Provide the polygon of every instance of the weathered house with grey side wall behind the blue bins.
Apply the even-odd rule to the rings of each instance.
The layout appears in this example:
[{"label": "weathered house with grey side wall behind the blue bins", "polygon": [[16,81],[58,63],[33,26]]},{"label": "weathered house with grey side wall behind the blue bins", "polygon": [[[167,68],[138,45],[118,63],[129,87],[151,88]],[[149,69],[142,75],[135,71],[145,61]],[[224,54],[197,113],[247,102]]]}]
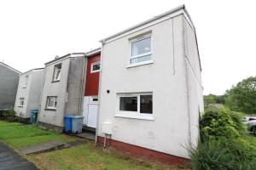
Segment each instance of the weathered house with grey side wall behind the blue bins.
[{"label": "weathered house with grey side wall behind the blue bins", "polygon": [[82,115],[85,61],[83,53],[75,53],[45,64],[40,125],[62,131],[65,115]]}]

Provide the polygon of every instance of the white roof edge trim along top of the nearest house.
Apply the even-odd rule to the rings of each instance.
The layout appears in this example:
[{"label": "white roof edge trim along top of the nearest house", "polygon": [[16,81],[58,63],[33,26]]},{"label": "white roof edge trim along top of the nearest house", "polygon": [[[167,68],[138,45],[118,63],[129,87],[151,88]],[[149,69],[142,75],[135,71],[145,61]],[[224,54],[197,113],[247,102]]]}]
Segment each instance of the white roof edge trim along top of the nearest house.
[{"label": "white roof edge trim along top of the nearest house", "polygon": [[153,17],[153,18],[151,18],[149,20],[145,20],[142,23],[137,24],[136,26],[131,26],[130,28],[125,29],[124,31],[119,31],[118,33],[113,34],[110,37],[106,37],[106,38],[102,39],[100,42],[108,41],[109,39],[111,39],[113,37],[118,37],[118,36],[124,34],[125,32],[132,31],[132,30],[134,30],[134,29],[136,29],[136,28],[138,28],[140,26],[144,26],[144,25],[146,25],[146,24],[148,24],[150,22],[153,22],[154,20],[159,20],[159,19],[161,19],[163,17],[166,17],[167,15],[173,14],[173,13],[178,12],[180,10],[183,10],[183,14],[186,15],[186,18],[189,20],[189,24],[195,29],[195,26],[194,26],[194,24],[193,24],[193,22],[192,22],[192,20],[191,20],[191,18],[189,16],[189,13],[185,9],[185,5],[183,4],[181,6],[178,6],[177,8],[172,8],[171,10],[167,11],[166,13],[160,14],[157,17]]}]

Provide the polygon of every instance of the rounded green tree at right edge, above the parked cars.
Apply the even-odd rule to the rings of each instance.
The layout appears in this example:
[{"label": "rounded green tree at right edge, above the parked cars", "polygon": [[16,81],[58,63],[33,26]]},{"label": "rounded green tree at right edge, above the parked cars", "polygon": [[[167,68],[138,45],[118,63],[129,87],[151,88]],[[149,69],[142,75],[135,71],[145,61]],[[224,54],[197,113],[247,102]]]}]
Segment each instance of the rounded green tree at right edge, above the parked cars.
[{"label": "rounded green tree at right edge, above the parked cars", "polygon": [[248,77],[225,94],[225,105],[232,111],[256,113],[256,77]]}]

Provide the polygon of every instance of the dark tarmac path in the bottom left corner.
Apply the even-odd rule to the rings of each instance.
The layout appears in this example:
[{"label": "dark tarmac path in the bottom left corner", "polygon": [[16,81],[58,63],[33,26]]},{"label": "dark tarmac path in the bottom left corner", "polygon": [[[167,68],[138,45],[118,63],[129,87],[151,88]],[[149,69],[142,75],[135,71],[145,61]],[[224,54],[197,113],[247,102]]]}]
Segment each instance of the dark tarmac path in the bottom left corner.
[{"label": "dark tarmac path in the bottom left corner", "polygon": [[30,161],[21,157],[7,145],[0,142],[0,170],[38,170]]}]

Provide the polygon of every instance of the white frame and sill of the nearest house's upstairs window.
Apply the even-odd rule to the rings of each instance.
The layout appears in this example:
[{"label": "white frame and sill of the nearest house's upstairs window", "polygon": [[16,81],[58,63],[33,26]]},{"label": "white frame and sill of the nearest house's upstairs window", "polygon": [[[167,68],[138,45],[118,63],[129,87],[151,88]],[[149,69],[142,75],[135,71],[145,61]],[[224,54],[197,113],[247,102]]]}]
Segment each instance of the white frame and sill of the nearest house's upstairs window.
[{"label": "white frame and sill of the nearest house's upstairs window", "polygon": [[[150,37],[150,52],[132,56],[132,43],[133,42],[141,41],[141,40],[146,39],[148,37]],[[153,48],[152,48],[152,34],[151,33],[143,35],[141,37],[137,37],[137,38],[131,39],[131,41],[130,41],[130,48],[131,48],[131,54],[130,54],[130,58],[129,58],[129,65],[127,66],[128,68],[129,67],[133,67],[133,66],[137,66],[137,65],[148,65],[148,64],[152,64],[153,63],[153,59],[152,59],[153,58]],[[147,55],[151,55],[151,59],[131,64],[131,59],[137,59],[137,58],[140,58],[140,57],[143,57],[143,56],[147,56]]]}]

